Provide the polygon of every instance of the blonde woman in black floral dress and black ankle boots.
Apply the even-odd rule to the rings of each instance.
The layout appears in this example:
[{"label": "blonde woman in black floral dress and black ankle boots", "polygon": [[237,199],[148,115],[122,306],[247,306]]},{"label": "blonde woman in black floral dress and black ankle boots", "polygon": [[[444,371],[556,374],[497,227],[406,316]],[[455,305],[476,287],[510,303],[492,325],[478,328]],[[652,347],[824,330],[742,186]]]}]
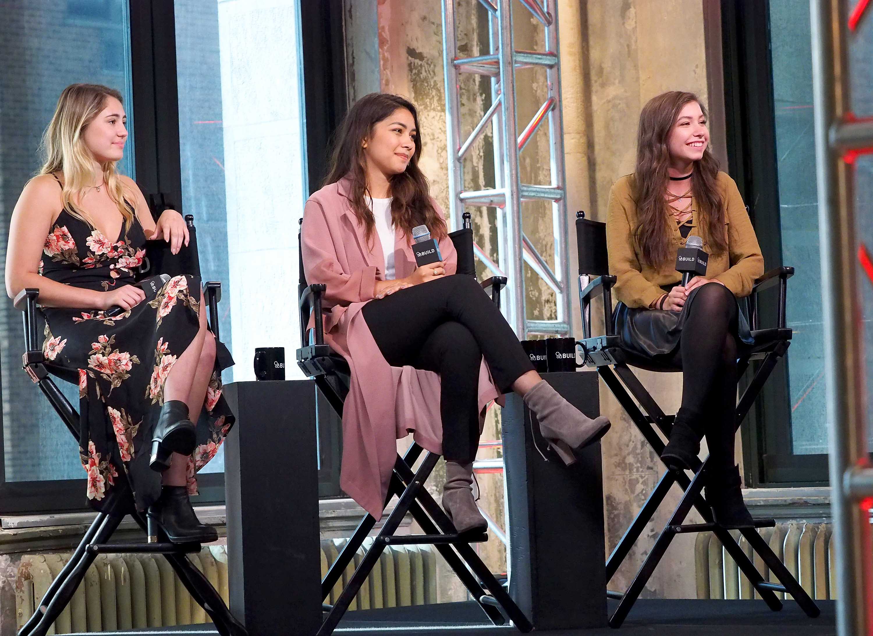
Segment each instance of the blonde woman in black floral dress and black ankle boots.
[{"label": "blonde woman in black floral dress and black ankle boots", "polygon": [[[189,494],[234,421],[221,395],[226,365],[216,362],[226,349],[207,328],[197,277],[171,278],[148,303],[134,286],[147,238],[176,253],[189,235],[175,210],[155,223],[116,171],[126,140],[119,92],[65,88],[45,165],[12,213],[6,291],[39,289],[45,359],[79,371],[87,499],[100,509],[127,482],[170,541],[207,543],[216,531],[197,520]],[[107,316],[113,307],[122,311]]]}]

